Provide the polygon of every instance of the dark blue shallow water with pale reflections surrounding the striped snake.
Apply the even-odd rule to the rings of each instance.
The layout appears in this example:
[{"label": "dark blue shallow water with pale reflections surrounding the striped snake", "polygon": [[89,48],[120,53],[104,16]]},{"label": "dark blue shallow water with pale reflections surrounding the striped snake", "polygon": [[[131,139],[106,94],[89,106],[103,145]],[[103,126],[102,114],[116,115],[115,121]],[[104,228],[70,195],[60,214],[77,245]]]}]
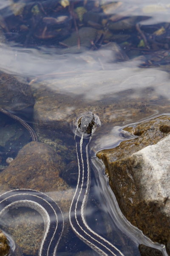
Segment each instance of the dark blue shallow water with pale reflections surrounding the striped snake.
[{"label": "dark blue shallow water with pale reflections surrounding the striped snake", "polygon": [[[78,16],[79,8],[85,13],[84,20]],[[0,71],[6,75],[0,74],[0,106],[30,123],[39,141],[57,151],[60,177],[73,177],[67,180],[67,189],[54,190],[48,173],[45,172],[43,181],[37,176],[34,179],[35,169],[25,183],[19,177],[18,184],[5,182],[2,175],[1,189],[25,188],[29,184],[31,189],[47,192],[61,204],[66,229],[58,255],[96,255],[71,231],[68,207],[62,203],[66,201],[67,206],[71,203],[77,181],[74,125],[77,117],[89,110],[102,123],[90,145],[92,180],[86,209],[89,226],[125,256],[140,256],[139,244],[158,248],[167,255],[162,245],[154,244],[122,215],[104,166],[95,154],[125,140],[120,135],[123,127],[170,112],[169,14],[166,0],[161,3],[1,0]],[[74,39],[68,41],[73,35]],[[11,134],[5,140],[8,143],[0,145],[2,174],[8,166],[7,156],[16,157],[30,138],[22,126],[3,115],[1,125],[2,134],[7,128]],[[51,183],[51,189],[46,183]],[[26,221],[28,216],[31,217]],[[1,222],[14,240],[18,236],[14,230],[19,230],[20,223],[26,225],[26,234],[19,230],[22,235],[17,243],[24,255],[37,255],[43,230],[40,215],[30,209],[13,209]],[[36,228],[35,223],[39,224]],[[35,237],[35,244],[30,237]]]}]

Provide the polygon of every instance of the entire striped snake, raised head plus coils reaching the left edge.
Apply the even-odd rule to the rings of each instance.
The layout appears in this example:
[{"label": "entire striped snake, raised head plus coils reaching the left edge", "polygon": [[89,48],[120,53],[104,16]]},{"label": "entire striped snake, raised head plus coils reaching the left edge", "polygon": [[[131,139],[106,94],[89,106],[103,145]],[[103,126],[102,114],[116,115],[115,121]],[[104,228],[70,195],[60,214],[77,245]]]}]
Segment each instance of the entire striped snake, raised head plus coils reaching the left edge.
[{"label": "entire striped snake, raised head plus coils reaching the left edge", "polygon": [[[12,118],[20,122],[19,117],[5,110]],[[77,121],[75,142],[78,162],[78,180],[74,197],[69,210],[69,222],[74,233],[85,244],[101,256],[124,256],[124,254],[110,241],[96,233],[89,227],[85,209],[91,185],[91,170],[89,163],[89,143],[94,133],[99,117],[92,112],[83,114]],[[31,138],[37,140],[34,130],[22,120],[21,122],[30,132]],[[44,221],[44,232],[40,243],[38,256],[56,256],[57,247],[64,228],[64,218],[57,203],[45,193],[34,189],[14,189],[0,195],[0,217],[10,209],[28,207],[40,213]]]}]

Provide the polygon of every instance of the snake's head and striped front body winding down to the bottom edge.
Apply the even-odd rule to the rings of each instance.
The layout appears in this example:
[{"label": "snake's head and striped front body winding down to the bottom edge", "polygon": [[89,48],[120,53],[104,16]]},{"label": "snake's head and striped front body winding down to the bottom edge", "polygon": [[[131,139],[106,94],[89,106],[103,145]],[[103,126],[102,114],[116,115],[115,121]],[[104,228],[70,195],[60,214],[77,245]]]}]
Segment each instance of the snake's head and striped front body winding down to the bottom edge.
[{"label": "snake's head and striped front body winding down to the bottom edge", "polygon": [[[92,132],[96,123],[95,118],[97,116],[93,113],[86,113],[82,116],[75,133],[79,177],[69,212],[70,224],[77,236],[99,253],[99,255],[123,256],[123,253],[118,248],[94,232],[88,226],[85,219],[85,208],[91,180],[88,145],[91,141]],[[77,136],[77,133],[79,136]]]}]

